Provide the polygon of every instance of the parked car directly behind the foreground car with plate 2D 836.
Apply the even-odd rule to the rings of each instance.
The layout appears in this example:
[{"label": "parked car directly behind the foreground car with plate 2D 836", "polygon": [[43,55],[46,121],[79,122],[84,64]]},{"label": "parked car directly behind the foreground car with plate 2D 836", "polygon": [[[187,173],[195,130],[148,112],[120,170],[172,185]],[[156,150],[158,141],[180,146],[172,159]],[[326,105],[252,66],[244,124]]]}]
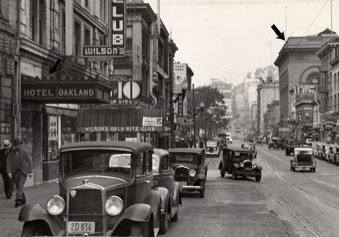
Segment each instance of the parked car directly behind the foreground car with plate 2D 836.
[{"label": "parked car directly behind the foreground car with plate 2D 836", "polygon": [[166,150],[154,148],[153,154],[153,187],[165,187],[168,192],[161,193],[161,222],[160,234],[167,232],[168,218],[177,221],[179,215],[179,204],[181,205],[181,188],[174,181],[174,170],[172,170],[171,156]]}]

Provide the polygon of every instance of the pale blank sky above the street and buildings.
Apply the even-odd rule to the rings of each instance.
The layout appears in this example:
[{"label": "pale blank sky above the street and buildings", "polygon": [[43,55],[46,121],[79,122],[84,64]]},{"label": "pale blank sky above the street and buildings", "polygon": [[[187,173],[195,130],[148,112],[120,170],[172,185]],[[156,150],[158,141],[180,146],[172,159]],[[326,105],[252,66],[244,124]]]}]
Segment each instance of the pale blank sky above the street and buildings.
[{"label": "pale blank sky above the street and buildings", "polygon": [[[157,0],[144,2],[157,13]],[[332,30],[339,34],[338,12],[339,0],[332,0]],[[331,29],[331,0],[160,0],[160,18],[179,48],[175,61],[192,68],[195,86],[210,78],[237,85],[278,57],[285,41],[276,39],[273,24],[286,39]]]}]

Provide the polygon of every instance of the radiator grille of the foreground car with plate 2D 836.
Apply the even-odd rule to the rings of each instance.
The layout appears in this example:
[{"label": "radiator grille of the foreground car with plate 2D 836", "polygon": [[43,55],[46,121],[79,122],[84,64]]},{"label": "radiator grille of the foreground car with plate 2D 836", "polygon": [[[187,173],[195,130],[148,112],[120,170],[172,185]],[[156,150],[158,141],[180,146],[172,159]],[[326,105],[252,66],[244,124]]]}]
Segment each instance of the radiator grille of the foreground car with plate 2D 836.
[{"label": "radiator grille of the foreground car with plate 2D 836", "polygon": [[99,189],[75,189],[74,197],[68,196],[68,221],[94,221],[95,232],[103,232],[102,191]]}]

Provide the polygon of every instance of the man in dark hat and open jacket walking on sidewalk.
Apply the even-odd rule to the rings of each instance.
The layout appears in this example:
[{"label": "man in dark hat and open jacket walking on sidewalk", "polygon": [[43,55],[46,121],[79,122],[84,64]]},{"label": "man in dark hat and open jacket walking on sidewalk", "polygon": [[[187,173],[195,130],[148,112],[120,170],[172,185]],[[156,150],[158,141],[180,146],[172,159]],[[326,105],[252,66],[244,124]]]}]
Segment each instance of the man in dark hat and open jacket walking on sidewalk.
[{"label": "man in dark hat and open jacket walking on sidewalk", "polygon": [[[20,138],[14,139],[14,151],[11,151],[7,157],[6,171],[10,178],[14,179],[17,188],[15,197],[15,207],[26,204],[26,196],[23,192],[23,186],[26,182],[27,175],[29,178],[33,176],[33,161],[28,152],[21,149],[23,142]],[[28,165],[27,165],[28,164]]]}]

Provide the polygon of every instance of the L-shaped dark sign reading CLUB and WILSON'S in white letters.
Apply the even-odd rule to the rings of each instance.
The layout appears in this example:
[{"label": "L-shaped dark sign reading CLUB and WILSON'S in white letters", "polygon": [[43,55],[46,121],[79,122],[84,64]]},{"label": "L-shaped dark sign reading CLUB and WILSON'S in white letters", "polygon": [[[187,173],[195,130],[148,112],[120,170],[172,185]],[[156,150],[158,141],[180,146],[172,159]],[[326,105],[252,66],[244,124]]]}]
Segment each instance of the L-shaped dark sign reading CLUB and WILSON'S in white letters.
[{"label": "L-shaped dark sign reading CLUB and WILSON'S in white letters", "polygon": [[84,45],[82,56],[89,60],[109,61],[126,55],[126,0],[108,2],[108,45]]}]

